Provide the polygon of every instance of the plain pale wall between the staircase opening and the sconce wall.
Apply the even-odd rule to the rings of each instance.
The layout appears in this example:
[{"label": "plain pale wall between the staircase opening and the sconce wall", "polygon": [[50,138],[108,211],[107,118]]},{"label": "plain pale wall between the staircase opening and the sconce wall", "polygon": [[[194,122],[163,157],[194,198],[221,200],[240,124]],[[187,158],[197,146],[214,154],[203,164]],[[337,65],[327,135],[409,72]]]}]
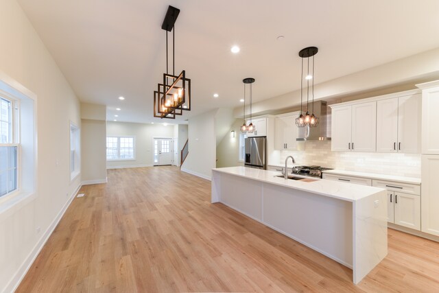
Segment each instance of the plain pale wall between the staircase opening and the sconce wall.
[{"label": "plain pale wall between the staircase opening and the sconce wall", "polygon": [[211,110],[189,118],[189,154],[181,170],[211,180],[216,166],[215,113]]}]

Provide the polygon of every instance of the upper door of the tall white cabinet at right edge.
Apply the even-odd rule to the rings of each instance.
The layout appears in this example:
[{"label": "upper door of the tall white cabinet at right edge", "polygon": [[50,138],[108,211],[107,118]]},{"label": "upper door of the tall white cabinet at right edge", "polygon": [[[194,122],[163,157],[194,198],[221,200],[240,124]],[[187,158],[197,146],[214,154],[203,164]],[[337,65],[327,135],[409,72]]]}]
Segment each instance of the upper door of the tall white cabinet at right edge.
[{"label": "upper door of the tall white cabinet at right edge", "polygon": [[439,86],[423,89],[422,151],[439,154]]}]

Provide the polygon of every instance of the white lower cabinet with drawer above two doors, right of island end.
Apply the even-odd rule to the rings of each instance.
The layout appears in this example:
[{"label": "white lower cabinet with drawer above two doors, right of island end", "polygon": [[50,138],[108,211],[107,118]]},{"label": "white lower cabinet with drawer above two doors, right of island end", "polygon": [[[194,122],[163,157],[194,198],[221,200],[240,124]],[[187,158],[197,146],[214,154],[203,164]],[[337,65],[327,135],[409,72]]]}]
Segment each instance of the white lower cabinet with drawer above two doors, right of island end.
[{"label": "white lower cabinet with drawer above two doors, right of island end", "polygon": [[[372,180],[372,185],[388,189],[388,222],[420,231],[420,188],[418,185],[383,180]],[[410,192],[410,194],[401,190]]]}]

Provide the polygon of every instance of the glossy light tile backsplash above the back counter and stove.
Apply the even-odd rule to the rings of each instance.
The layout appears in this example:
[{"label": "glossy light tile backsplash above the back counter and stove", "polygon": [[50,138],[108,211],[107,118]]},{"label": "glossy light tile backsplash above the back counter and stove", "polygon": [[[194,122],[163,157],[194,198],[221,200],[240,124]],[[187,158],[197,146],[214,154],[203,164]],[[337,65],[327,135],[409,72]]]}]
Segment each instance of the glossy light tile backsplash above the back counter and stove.
[{"label": "glossy light tile backsplash above the back counter and stove", "polygon": [[[294,156],[298,165],[320,165],[346,171],[420,178],[420,154],[331,152],[331,141],[306,141],[297,151],[280,151],[280,165]],[[291,163],[291,162],[290,162]]]}]

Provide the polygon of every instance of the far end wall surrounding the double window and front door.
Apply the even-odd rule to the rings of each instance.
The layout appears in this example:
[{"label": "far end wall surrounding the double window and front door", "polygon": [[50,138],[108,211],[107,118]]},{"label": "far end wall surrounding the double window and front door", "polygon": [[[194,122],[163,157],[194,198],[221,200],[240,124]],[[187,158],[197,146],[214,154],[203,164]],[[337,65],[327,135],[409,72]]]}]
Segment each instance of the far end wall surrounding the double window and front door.
[{"label": "far end wall surrounding the double window and front door", "polygon": [[154,137],[174,138],[174,126],[107,122],[107,136],[134,137],[134,160],[107,161],[108,169],[121,167],[147,167],[153,165],[152,141]]}]

